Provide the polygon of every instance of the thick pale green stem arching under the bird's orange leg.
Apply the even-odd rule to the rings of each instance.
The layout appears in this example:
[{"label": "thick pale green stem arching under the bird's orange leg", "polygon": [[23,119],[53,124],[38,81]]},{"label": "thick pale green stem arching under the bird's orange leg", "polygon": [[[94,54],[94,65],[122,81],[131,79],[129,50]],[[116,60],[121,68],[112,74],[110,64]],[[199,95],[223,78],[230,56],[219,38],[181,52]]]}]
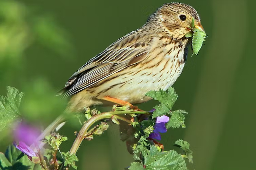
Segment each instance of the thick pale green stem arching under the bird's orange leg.
[{"label": "thick pale green stem arching under the bird's orange leg", "polygon": [[117,115],[117,114],[146,114],[149,113],[148,111],[112,111],[112,112],[104,112],[97,114],[95,116],[92,116],[91,119],[87,120],[81,130],[79,131],[78,135],[75,138],[75,141],[69,151],[70,154],[75,154],[82,143],[82,140],[84,139],[84,136],[86,135],[88,129],[97,121],[102,120],[102,119],[110,119],[112,115]]}]

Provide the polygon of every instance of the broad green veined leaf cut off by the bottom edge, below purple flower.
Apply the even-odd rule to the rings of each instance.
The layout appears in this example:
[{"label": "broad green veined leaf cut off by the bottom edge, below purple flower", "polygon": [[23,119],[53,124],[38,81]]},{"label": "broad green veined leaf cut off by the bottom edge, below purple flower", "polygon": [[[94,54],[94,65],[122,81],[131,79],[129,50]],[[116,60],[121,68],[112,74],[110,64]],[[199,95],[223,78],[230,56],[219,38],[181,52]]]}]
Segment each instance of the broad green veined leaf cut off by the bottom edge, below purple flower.
[{"label": "broad green veined leaf cut off by the bottom edge, below purple flower", "polygon": [[182,155],[174,150],[158,152],[155,146],[151,146],[149,152],[142,154],[145,158],[145,170],[187,170]]}]

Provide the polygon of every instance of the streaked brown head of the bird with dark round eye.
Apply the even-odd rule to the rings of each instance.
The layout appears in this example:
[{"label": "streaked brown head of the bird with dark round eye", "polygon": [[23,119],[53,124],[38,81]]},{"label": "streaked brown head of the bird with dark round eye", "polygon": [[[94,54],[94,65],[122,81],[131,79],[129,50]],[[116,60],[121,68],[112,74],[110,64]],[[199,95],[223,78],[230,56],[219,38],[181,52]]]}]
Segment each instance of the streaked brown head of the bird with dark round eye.
[{"label": "streaked brown head of the bird with dark round eye", "polygon": [[155,16],[158,23],[174,39],[183,39],[191,31],[192,19],[194,26],[204,31],[201,20],[196,10],[183,3],[168,3],[160,7]]}]

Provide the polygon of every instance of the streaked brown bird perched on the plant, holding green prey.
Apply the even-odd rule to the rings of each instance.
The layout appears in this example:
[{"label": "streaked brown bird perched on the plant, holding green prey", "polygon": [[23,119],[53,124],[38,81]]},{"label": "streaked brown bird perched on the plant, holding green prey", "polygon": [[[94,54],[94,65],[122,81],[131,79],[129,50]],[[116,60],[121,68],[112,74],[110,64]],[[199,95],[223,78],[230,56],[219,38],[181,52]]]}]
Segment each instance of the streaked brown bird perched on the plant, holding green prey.
[{"label": "streaked brown bird perched on the plant, holding green prey", "polygon": [[[66,82],[58,95],[70,97],[65,112],[117,103],[147,102],[151,90],[167,90],[181,75],[192,38],[185,34],[196,28],[204,31],[197,11],[190,5],[173,2],[158,8],[135,31],[113,42],[87,61]],[[58,117],[46,132],[63,122]]]}]

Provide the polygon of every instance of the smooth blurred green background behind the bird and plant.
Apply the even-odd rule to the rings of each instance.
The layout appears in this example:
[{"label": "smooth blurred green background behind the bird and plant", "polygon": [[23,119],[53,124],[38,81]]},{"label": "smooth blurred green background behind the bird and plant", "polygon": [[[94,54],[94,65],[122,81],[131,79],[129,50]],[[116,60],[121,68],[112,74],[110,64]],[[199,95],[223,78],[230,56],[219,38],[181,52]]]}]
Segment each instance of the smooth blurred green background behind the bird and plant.
[{"label": "smooth blurred green background behind the bird and plant", "polygon": [[[55,92],[73,72],[168,2],[0,0],[0,94],[6,95],[7,85],[25,92],[24,117],[47,126],[65,107]],[[194,156],[190,170],[255,170],[256,1],[180,2],[198,11],[208,37],[173,85],[179,95],[174,109],[189,112],[187,128],[169,130],[162,143],[170,149],[177,139],[187,140]],[[79,126],[69,123],[60,131],[69,137],[62,152],[71,147],[75,130]],[[2,152],[11,143],[8,133],[0,137]],[[84,141],[77,155],[79,170],[122,170],[133,161],[114,125]]]}]

